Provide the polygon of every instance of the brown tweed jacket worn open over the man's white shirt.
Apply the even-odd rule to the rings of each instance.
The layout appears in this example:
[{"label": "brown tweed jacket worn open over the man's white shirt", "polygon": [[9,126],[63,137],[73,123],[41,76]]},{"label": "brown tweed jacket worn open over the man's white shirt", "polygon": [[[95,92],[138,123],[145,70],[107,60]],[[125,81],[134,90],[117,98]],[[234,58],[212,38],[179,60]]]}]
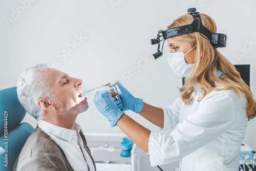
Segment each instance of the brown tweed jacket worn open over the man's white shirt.
[{"label": "brown tweed jacket worn open over the man's white shirt", "polygon": [[[79,132],[83,146],[92,158],[95,170],[95,162],[91,155],[90,149],[87,146],[86,138],[82,130]],[[40,127],[31,133],[25,145],[17,157],[13,170],[74,170],[66,158],[65,153],[60,146]]]}]

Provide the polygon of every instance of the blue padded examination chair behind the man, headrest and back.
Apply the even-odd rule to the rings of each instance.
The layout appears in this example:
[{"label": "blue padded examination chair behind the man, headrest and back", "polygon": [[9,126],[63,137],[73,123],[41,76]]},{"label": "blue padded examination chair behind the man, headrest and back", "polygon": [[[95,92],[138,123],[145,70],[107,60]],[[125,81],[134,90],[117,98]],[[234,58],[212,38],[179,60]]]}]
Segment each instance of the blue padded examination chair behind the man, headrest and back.
[{"label": "blue padded examination chair behind the man, headrest and back", "polygon": [[34,131],[29,123],[20,123],[25,114],[16,87],[0,90],[0,170],[12,170],[22,147]]}]

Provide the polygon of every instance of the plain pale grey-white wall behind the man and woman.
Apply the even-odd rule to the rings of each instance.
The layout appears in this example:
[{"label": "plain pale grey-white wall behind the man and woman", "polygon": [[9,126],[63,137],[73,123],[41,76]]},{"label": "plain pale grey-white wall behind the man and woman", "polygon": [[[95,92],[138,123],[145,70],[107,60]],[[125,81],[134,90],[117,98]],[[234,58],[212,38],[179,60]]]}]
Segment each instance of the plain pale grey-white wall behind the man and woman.
[{"label": "plain pale grey-white wall behind the man and woman", "polygon": [[[256,2],[246,1],[0,1],[0,89],[16,86],[19,75],[36,63],[83,80],[83,90],[120,80],[135,97],[165,107],[179,97],[181,78],[163,56],[154,60],[157,45],[150,40],[166,30],[187,9],[196,7],[212,17],[219,33],[227,34],[226,48],[218,50],[233,64],[251,65],[251,88],[256,99]],[[22,7],[23,6],[23,7]],[[94,94],[93,91],[90,94]],[[77,122],[87,134],[122,134],[88,97],[90,109]],[[151,131],[159,128],[140,115],[125,112]],[[26,115],[34,127],[37,121]],[[244,141],[256,149],[256,119],[249,121]]]}]

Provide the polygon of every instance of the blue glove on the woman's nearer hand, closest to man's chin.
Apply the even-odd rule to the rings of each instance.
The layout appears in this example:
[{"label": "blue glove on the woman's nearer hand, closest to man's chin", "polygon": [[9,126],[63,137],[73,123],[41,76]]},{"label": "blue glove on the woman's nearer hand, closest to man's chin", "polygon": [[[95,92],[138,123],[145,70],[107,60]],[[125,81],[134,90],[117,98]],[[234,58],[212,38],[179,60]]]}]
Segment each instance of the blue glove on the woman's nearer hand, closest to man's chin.
[{"label": "blue glove on the woman's nearer hand, closest to man's chin", "polygon": [[110,92],[108,90],[97,91],[94,95],[93,102],[99,112],[110,121],[111,127],[116,126],[116,122],[121,118],[124,112],[118,109]]}]

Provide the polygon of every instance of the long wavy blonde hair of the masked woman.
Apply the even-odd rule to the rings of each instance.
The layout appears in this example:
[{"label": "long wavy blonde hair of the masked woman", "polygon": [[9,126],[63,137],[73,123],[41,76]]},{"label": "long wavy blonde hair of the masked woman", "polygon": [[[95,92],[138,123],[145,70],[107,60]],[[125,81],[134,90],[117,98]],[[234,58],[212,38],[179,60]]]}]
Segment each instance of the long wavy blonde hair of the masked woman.
[{"label": "long wavy blonde hair of the masked woman", "polygon": [[[212,33],[217,32],[216,24],[211,17],[206,14],[200,14],[200,17],[205,28]],[[167,29],[189,25],[192,22],[193,16],[186,14],[176,19]],[[209,40],[202,37],[199,32],[175,36],[172,37],[172,40],[187,41],[191,47],[197,45],[193,72],[185,78],[185,84],[180,89],[181,98],[185,104],[193,101],[191,94],[194,92],[194,87],[197,88],[199,83],[202,96],[198,101],[201,101],[211,90],[233,90],[239,94],[241,99],[245,98],[248,120],[256,116],[256,102],[250,88],[232,63],[213,47]],[[223,74],[221,77],[218,77],[217,70]],[[223,88],[217,88],[218,84],[221,84]]]}]

